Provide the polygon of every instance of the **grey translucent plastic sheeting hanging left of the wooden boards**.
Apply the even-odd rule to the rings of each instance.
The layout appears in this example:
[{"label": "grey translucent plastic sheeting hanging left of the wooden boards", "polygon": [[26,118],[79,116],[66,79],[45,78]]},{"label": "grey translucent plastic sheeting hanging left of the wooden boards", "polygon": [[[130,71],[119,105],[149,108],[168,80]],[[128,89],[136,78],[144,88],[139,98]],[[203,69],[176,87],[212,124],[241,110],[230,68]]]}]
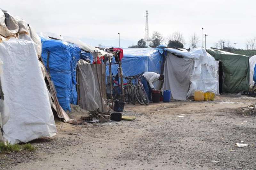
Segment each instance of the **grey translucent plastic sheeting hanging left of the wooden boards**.
[{"label": "grey translucent plastic sheeting hanging left of the wooden boards", "polygon": [[100,91],[90,63],[78,61],[79,106],[88,111],[101,110]]}]

